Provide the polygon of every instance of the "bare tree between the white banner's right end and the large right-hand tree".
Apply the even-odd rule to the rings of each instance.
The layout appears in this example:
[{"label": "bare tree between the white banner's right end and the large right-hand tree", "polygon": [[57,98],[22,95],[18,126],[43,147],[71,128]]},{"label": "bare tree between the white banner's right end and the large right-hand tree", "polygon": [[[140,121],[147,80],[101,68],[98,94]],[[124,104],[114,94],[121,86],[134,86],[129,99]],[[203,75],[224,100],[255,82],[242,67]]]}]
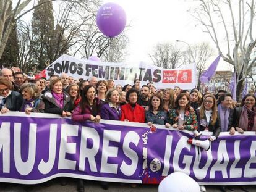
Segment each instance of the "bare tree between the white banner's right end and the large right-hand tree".
[{"label": "bare tree between the white banner's right end and the large right-hand tree", "polygon": [[[202,72],[206,69],[206,64],[209,59],[209,57],[213,56],[213,48],[210,47],[210,44],[207,42],[202,42],[195,44],[193,46],[190,46],[185,51],[185,62],[186,63],[195,63],[197,65],[197,72],[198,76],[200,77],[202,75]],[[200,79],[197,83],[197,89],[199,90],[201,85]]]}]

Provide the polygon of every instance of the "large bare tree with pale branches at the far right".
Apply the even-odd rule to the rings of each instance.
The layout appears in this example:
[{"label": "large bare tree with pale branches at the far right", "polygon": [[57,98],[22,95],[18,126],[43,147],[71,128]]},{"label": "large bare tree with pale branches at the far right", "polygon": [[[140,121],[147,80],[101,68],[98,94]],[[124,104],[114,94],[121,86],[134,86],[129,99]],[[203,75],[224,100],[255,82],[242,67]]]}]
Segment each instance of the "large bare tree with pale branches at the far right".
[{"label": "large bare tree with pale branches at the far right", "polygon": [[256,2],[198,0],[197,3],[193,11],[195,19],[214,41],[219,54],[226,52],[221,54],[224,61],[234,66],[239,99],[244,79],[256,65],[256,58],[249,62],[252,49],[256,45],[256,33],[253,30]]}]

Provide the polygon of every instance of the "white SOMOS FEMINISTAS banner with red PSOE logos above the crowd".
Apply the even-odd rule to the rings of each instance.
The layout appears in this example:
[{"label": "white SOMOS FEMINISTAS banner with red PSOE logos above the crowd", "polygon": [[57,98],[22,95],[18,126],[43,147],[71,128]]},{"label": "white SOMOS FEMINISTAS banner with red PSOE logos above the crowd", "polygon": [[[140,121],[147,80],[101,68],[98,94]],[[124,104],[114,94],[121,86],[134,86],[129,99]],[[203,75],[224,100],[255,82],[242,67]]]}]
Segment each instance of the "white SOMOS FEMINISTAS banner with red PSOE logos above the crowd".
[{"label": "white SOMOS FEMINISTAS banner with red PSOE logos above the crowd", "polygon": [[182,89],[192,89],[196,86],[195,64],[177,69],[164,69],[145,62],[133,64],[96,62],[77,59],[66,54],[49,65],[38,77],[49,78],[50,75],[61,75],[62,72],[84,80],[92,76],[99,80],[112,79],[116,85],[121,84],[122,86],[127,83],[133,85],[135,79],[139,79],[141,85],[153,81],[156,88],[159,89],[174,88],[174,86],[179,86]]}]

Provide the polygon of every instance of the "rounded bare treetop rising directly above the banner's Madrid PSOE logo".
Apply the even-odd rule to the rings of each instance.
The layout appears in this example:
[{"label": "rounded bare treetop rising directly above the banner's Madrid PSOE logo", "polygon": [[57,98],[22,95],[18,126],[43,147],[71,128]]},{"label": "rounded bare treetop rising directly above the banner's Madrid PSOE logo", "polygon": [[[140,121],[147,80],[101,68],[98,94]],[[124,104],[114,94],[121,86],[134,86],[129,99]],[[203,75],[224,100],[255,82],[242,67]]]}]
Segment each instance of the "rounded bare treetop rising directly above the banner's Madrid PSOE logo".
[{"label": "rounded bare treetop rising directly above the banner's Madrid PSOE logo", "polygon": [[172,43],[156,44],[153,54],[148,54],[153,64],[166,69],[180,67],[184,62],[184,52]]}]

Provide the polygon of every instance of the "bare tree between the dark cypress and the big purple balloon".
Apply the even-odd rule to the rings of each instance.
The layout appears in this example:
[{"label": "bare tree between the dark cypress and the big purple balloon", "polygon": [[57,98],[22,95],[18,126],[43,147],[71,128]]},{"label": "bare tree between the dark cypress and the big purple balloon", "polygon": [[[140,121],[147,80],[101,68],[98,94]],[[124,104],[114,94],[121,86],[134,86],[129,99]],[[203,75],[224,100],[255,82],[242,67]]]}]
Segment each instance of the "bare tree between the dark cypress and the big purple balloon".
[{"label": "bare tree between the dark cypress and the big purple balloon", "polygon": [[49,57],[50,61],[54,61],[63,53],[67,54],[69,48],[75,49],[76,44],[84,42],[81,33],[86,31],[90,25],[93,25],[99,5],[100,1],[92,1],[86,7],[67,2],[61,4],[56,19],[55,38],[51,42],[53,52],[52,56]]}]

